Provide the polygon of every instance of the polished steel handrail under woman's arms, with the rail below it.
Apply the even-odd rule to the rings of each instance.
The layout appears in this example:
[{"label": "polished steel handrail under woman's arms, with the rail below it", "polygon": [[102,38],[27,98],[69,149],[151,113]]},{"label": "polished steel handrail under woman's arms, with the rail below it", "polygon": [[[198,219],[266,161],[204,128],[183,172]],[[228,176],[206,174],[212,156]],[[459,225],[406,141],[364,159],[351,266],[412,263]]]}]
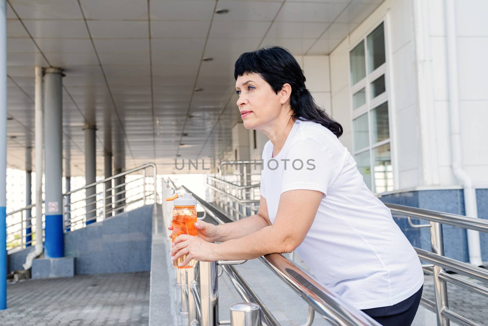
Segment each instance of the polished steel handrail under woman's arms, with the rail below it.
[{"label": "polished steel handrail under woman's arms, with the rail below it", "polygon": [[[190,189],[181,185],[174,187],[173,190],[183,189],[185,192],[191,192]],[[225,224],[233,222],[227,216],[224,215],[217,207],[203,201],[200,197],[193,193],[195,200],[207,211],[207,215],[210,216],[215,222],[219,224]],[[361,310],[358,310],[351,305],[344,302],[332,291],[327,290],[324,286],[320,285],[304,270],[297,265],[287,260],[281,254],[268,254],[259,258],[260,261],[269,267],[273,272],[290,286],[295,292],[297,292],[310,306],[312,306],[319,314],[326,319],[333,321],[337,325],[344,326],[380,326],[376,321],[370,318]],[[203,262],[200,262],[202,264]],[[237,277],[234,273],[235,268],[231,265],[223,265],[222,268],[226,273],[231,274],[231,280],[233,284],[238,285],[236,289],[241,289],[241,296],[244,300],[258,301],[257,304],[261,304],[264,325],[277,326],[279,323],[272,316],[271,312],[264,306],[260,300],[253,299],[252,289],[246,286],[240,277]],[[202,274],[200,274],[202,275]],[[245,289],[245,291],[244,291]],[[257,297],[257,296],[256,296]],[[245,299],[246,298],[246,299]],[[259,299],[259,298],[258,298]],[[246,300],[246,301],[247,301]],[[203,300],[202,300],[203,304]],[[202,309],[203,310],[203,309]],[[202,324],[202,326],[205,326]]]}]

